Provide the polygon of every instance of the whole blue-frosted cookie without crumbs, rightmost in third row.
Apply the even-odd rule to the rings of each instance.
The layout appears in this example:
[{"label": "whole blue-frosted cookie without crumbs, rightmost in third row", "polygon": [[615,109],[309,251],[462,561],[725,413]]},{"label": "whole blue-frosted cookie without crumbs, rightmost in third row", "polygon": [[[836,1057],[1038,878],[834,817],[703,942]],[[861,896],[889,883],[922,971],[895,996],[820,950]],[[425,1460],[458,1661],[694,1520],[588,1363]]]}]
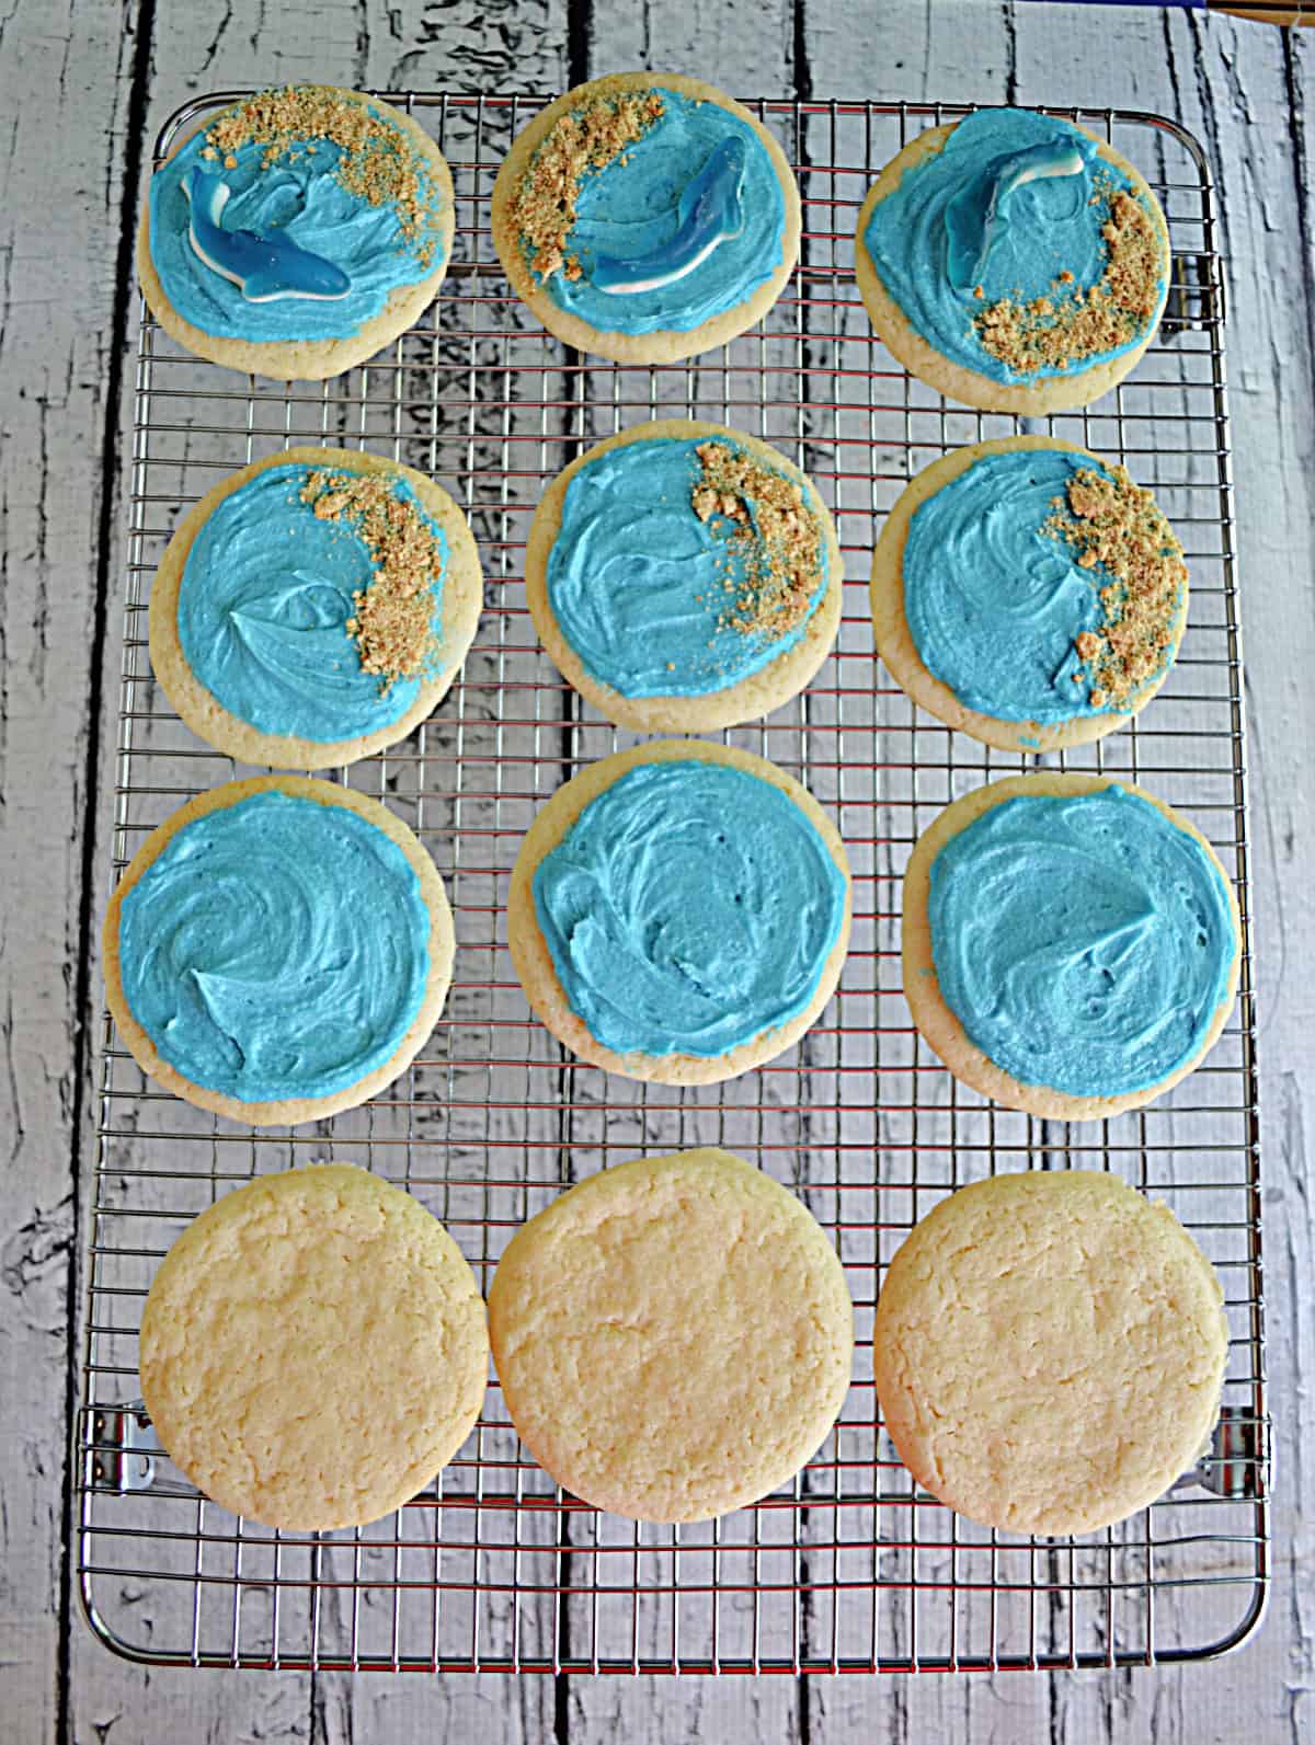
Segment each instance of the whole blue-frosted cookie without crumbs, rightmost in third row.
[{"label": "whole blue-frosted cookie without crumbs, rightmost in third row", "polygon": [[950,1071],[1008,1108],[1100,1120],[1214,1047],[1242,923],[1201,832],[1130,782],[1039,771],[954,801],[905,872],[905,998]]}]

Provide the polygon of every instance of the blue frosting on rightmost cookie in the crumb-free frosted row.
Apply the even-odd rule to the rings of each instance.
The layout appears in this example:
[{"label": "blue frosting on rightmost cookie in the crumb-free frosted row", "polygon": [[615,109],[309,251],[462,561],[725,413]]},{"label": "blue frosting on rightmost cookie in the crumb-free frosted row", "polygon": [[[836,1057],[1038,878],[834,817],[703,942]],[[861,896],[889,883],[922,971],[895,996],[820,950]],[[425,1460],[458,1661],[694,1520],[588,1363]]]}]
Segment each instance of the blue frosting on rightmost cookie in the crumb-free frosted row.
[{"label": "blue frosting on rightmost cookie in the crumb-free frosted row", "polygon": [[1020,1084],[1144,1091],[1196,1054],[1233,916],[1201,845],[1139,794],[1020,796],[931,866],[933,958],[967,1037]]}]

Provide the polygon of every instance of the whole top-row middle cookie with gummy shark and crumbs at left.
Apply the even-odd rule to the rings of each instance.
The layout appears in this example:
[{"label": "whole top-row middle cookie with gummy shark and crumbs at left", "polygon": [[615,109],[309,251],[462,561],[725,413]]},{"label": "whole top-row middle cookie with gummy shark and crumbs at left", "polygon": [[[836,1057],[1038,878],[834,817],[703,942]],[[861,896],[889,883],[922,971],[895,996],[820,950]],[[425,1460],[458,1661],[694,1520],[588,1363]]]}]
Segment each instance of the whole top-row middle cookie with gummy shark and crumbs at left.
[{"label": "whole top-row middle cookie with gummy shark and crumbs at left", "polygon": [[781,147],[725,92],[613,73],[517,136],[492,190],[492,241],[557,339],[667,363],[767,314],[798,258],[800,197]]}]

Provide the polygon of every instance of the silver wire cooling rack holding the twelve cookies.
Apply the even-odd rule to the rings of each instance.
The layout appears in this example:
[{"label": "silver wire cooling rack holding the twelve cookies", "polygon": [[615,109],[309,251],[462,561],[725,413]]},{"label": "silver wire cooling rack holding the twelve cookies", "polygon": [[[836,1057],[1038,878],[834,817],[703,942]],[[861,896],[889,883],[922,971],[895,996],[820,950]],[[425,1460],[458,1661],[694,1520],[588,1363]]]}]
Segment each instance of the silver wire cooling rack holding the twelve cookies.
[{"label": "silver wire cooling rack holding the twelve cookies", "polygon": [[[239,92],[183,106],[157,157]],[[456,979],[410,1071],[372,1105],[250,1133],[164,1096],[105,1019],[91,1183],[77,1567],[93,1628],[122,1654],[206,1666],[821,1672],[1125,1665],[1240,1642],[1266,1583],[1257,1115],[1243,712],[1224,408],[1222,283],[1207,161],[1153,115],[1076,112],[1147,174],[1170,220],[1174,288],[1132,379],[1088,412],[1036,421],[1154,487],[1191,564],[1191,619],[1130,729],[1048,759],[1135,778],[1208,834],[1242,906],[1238,1007],[1186,1082],[1139,1113],[1065,1127],[960,1087],[899,991],[899,878],[936,811],[1020,759],[919,714],[873,656],[866,574],[906,480],[947,448],[1018,429],[898,368],[854,284],[852,232],[877,169],[962,108],[760,101],[803,194],[803,255],[760,328],[690,363],[625,368],[566,351],[508,293],[489,192],[545,99],[389,94],[440,141],[458,201],[452,269],[426,318],[370,365],[283,387],[185,356],[141,311],[127,492],[114,876],[190,794],[246,773],[157,691],[147,595],[187,504],[231,468],[299,441],[360,445],[437,475],[487,571],[465,674],[435,717],[342,771],[433,853],[452,899]],[[1074,113],[1074,112],[1064,112]],[[120,335],[127,344],[127,335]],[[533,1021],[506,895],[536,806],[630,738],[566,688],[526,611],[526,529],[583,445],[658,414],[777,443],[830,501],[849,567],[833,656],[805,696],[728,735],[800,777],[854,867],[840,989],[807,1038],[725,1085],[637,1085],[585,1066]],[[337,1157],[409,1187],[487,1286],[517,1225],[564,1185],[637,1153],[725,1145],[803,1195],[857,1310],[854,1386],[800,1478],[702,1527],[634,1525],[562,1495],[520,1448],[496,1386],[437,1485],[349,1534],[278,1534],[206,1502],[154,1447],[136,1335],[161,1255],[262,1171]],[[1231,1351],[1214,1448],[1174,1490],[1081,1539],[978,1529],[920,1492],[882,1431],[871,1321],[882,1267],[964,1181],[1067,1166],[1165,1199],[1224,1283]],[[1135,1434],[1137,1426],[1130,1424]]]}]

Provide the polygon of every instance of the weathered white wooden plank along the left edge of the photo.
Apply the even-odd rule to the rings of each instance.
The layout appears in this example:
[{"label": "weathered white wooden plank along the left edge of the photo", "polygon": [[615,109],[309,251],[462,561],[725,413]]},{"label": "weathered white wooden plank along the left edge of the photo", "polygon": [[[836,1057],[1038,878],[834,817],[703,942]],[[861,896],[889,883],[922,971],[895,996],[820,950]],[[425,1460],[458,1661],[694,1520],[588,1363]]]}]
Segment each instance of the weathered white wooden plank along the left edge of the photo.
[{"label": "weathered white wooden plank along the left edge of the photo", "polygon": [[[65,1724],[65,1317],[94,543],[133,37],[108,0],[0,23],[0,1651],[5,1728]],[[84,1105],[86,1113],[86,1105]]]}]

